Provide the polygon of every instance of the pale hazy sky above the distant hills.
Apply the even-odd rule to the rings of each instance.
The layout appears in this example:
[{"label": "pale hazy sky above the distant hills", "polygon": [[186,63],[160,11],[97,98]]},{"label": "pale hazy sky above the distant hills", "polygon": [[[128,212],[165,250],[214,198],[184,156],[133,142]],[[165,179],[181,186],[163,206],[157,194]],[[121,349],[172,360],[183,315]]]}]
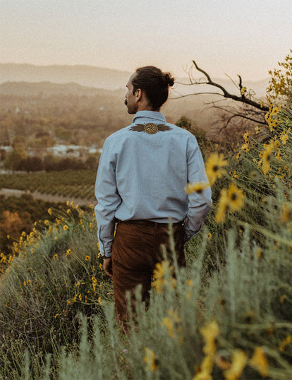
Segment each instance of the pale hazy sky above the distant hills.
[{"label": "pale hazy sky above the distant hills", "polygon": [[292,48],[291,0],[0,0],[0,61],[267,78]]}]

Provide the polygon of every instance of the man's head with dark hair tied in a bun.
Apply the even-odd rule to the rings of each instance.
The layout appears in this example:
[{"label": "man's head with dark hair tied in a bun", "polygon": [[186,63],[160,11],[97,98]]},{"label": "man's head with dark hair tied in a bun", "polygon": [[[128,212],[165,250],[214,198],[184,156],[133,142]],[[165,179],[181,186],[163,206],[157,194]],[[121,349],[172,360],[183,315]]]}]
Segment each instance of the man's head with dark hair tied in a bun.
[{"label": "man's head with dark hair tied in a bun", "polygon": [[163,73],[154,66],[137,69],[130,77],[126,87],[125,105],[129,114],[143,109],[159,111],[169,96],[169,87],[174,85],[170,73]]}]

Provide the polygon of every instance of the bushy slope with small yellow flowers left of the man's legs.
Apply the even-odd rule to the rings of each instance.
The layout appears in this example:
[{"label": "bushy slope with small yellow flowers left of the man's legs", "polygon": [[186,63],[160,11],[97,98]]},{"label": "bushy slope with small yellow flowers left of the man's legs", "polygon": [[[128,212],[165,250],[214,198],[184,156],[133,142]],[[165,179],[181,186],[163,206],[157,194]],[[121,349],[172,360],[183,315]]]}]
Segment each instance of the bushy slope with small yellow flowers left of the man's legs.
[{"label": "bushy slope with small yellow flowers left of the man's legs", "polygon": [[56,355],[61,345],[73,348],[78,343],[78,314],[102,320],[101,304],[111,299],[111,284],[99,259],[95,215],[67,207],[65,213],[49,208],[54,222],[44,220],[29,234],[23,232],[6,260],[0,278],[0,368],[9,378],[20,376],[22,353],[28,348],[33,378],[39,379],[44,353]]}]

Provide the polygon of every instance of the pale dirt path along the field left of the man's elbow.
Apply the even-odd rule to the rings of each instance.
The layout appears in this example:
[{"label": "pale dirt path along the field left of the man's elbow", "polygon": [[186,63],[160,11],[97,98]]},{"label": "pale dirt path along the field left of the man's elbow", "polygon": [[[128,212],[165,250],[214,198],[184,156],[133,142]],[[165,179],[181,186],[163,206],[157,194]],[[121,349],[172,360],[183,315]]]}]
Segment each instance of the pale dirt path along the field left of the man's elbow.
[{"label": "pale dirt path along the field left of the man's elbow", "polygon": [[69,201],[70,203],[73,202],[76,205],[79,206],[90,206],[91,204],[95,205],[97,201],[95,199],[82,199],[82,198],[73,198],[71,196],[58,196],[58,195],[52,195],[52,194],[42,194],[39,193],[39,191],[23,191],[23,190],[16,190],[16,189],[0,189],[0,195],[4,196],[23,196],[23,194],[29,194],[35,199],[40,199],[42,201],[46,202],[62,202],[66,203]]}]

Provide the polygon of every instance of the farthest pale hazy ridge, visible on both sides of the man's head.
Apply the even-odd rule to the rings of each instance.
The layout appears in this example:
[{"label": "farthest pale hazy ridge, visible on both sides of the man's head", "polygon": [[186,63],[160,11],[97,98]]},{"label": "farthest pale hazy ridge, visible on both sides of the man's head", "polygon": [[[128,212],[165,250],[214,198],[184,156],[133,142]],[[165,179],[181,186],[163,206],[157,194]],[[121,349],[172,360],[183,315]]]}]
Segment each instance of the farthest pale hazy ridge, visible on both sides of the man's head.
[{"label": "farthest pale hazy ridge, visible on both sides of the man's head", "polygon": [[[212,73],[209,74],[212,77]],[[86,65],[37,66],[33,64],[0,64],[0,83],[78,83],[79,85],[90,88],[104,88],[106,90],[117,90],[119,88],[123,88],[123,90],[126,90],[125,86],[130,75],[131,73],[129,71],[104,69],[97,66]],[[197,78],[200,77],[201,75],[197,75]],[[237,83],[238,78],[233,79]],[[177,80],[181,82],[188,81],[186,78],[177,78]],[[238,91],[229,78],[213,78],[213,80],[223,85],[226,90],[233,93]],[[264,96],[267,83],[268,79],[248,81],[246,78],[243,78],[243,85],[248,88],[252,88],[259,97]],[[195,88],[195,86],[176,85],[175,88],[178,90],[178,93],[181,94],[192,93],[195,91],[201,92],[205,90],[214,92],[214,88],[211,86],[207,86],[206,88],[202,88],[202,86]],[[71,90],[73,90],[73,87]]]}]

